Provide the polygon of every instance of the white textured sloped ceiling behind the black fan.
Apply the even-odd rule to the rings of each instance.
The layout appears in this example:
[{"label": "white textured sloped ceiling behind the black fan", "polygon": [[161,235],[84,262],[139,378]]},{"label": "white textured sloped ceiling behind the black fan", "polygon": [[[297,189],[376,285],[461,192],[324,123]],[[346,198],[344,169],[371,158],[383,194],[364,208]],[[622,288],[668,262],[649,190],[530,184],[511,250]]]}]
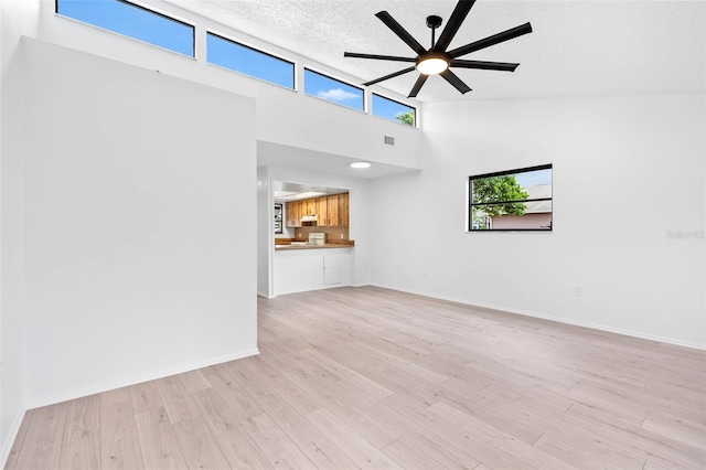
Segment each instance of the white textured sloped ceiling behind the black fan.
[{"label": "white textured sloped ceiling behind the black fan", "polygon": [[[456,0],[168,0],[277,46],[370,81],[405,68],[344,58],[343,52],[414,56],[374,14],[387,10],[422,45],[425,20],[448,20]],[[531,22],[532,34],[461,58],[518,62],[515,73],[454,70],[473,92],[461,96],[430,77],[418,100],[704,92],[706,2],[478,0],[450,49]],[[441,26],[443,28],[443,25]],[[407,95],[413,72],[381,83]],[[383,89],[384,89],[383,88]]]}]

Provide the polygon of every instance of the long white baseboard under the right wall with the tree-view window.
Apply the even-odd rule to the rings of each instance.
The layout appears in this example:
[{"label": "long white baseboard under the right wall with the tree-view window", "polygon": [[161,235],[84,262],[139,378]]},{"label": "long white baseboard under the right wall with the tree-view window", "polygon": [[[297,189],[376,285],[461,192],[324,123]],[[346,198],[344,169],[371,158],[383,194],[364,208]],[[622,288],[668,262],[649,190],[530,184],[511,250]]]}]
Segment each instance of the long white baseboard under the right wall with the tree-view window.
[{"label": "long white baseboard under the right wall with the tree-view window", "polygon": [[379,284],[371,284],[371,286],[379,287],[382,289],[389,289],[389,290],[397,290],[397,291],[400,291],[400,292],[414,293],[416,296],[429,297],[429,298],[432,298],[432,299],[446,300],[446,301],[449,301],[449,302],[462,303],[462,305],[470,306],[470,307],[478,307],[478,308],[483,308],[483,309],[496,310],[496,311],[500,311],[500,312],[521,314],[521,316],[524,316],[524,317],[539,318],[539,319],[543,319],[543,320],[556,321],[557,323],[571,324],[574,327],[589,328],[591,330],[606,331],[606,332],[609,332],[609,333],[623,334],[625,337],[640,338],[640,339],[643,339],[643,340],[657,341],[660,343],[674,344],[674,345],[677,345],[677,346],[692,348],[692,349],[696,349],[696,350],[706,351],[706,344],[693,343],[691,341],[682,341],[682,340],[677,340],[677,339],[674,339],[674,338],[659,337],[659,335],[654,335],[654,334],[643,333],[643,332],[640,332],[640,331],[623,330],[623,329],[620,329],[620,328],[607,327],[605,324],[588,323],[588,322],[582,322],[582,321],[573,321],[573,320],[567,320],[567,319],[560,318],[560,317],[553,317],[553,316],[531,312],[531,311],[526,311],[526,310],[520,310],[520,309],[513,309],[513,308],[509,308],[509,307],[494,306],[494,305],[490,305],[490,303],[473,302],[473,301],[469,301],[469,300],[464,300],[464,299],[457,299],[457,298],[447,297],[447,296],[438,296],[438,295],[435,295],[435,293],[422,292],[422,291],[418,291],[418,290],[402,289],[399,287],[391,287],[391,286],[384,286],[384,285],[379,285]]}]

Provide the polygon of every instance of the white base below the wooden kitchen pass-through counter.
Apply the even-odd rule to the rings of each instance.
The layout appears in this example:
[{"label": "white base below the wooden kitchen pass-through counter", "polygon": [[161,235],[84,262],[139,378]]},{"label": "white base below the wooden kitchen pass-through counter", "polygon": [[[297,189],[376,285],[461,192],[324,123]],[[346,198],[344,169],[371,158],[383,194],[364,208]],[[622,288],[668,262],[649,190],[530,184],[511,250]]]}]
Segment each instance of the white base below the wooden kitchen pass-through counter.
[{"label": "white base below the wooden kitchen pass-through counter", "polygon": [[350,286],[352,249],[275,250],[275,296]]}]

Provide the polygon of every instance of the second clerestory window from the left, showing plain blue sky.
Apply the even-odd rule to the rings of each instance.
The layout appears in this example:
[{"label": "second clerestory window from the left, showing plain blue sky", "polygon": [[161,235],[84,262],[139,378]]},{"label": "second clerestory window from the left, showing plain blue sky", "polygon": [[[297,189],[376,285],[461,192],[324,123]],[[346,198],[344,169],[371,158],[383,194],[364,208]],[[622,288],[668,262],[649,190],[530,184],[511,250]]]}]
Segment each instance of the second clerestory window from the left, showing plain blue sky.
[{"label": "second clerestory window from the left, showing plain blue sky", "polygon": [[206,34],[206,61],[290,89],[295,88],[295,64],[213,33]]}]

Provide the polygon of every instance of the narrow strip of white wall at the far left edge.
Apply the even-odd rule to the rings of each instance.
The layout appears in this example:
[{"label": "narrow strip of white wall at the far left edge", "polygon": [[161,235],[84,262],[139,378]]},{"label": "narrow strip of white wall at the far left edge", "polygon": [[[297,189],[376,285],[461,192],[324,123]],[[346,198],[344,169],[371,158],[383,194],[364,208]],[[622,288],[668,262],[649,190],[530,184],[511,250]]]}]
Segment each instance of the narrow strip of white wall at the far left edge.
[{"label": "narrow strip of white wall at the far left edge", "polygon": [[39,0],[0,1],[0,464],[24,414],[22,397],[22,61]]}]

